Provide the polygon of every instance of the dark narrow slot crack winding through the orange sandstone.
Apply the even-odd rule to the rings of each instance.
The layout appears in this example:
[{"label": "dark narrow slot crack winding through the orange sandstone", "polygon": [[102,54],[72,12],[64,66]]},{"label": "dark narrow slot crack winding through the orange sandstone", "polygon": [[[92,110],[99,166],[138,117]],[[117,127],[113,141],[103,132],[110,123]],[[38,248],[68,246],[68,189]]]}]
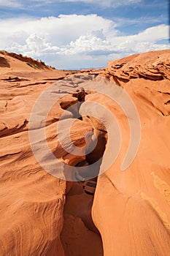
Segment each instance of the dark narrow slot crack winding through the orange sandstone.
[{"label": "dark narrow slot crack winding through the orange sandstone", "polygon": [[[85,101],[85,91],[83,89],[81,91],[77,90],[77,94],[73,94],[73,97],[77,97],[78,105],[76,108],[74,108],[72,102],[66,104],[66,101],[65,103],[63,101],[61,107],[65,110],[69,109],[73,118],[88,122],[93,127],[94,118],[91,121],[90,116],[82,117],[79,113],[80,105]],[[95,122],[98,122],[98,120],[95,120]],[[77,167],[88,166],[89,174],[80,171],[80,181],[66,181],[66,203],[63,211],[63,230],[61,232],[61,243],[66,256],[104,255],[101,235],[93,223],[91,211],[98,173],[107,144],[107,131],[93,127],[93,132],[97,141],[90,142],[85,153],[85,159],[77,163],[72,161],[74,166]],[[96,143],[96,145],[94,146],[93,143]],[[93,150],[88,153],[90,147]],[[95,170],[93,170],[93,164],[96,162]],[[86,177],[90,176],[90,172],[93,172],[95,178],[86,180]]]}]

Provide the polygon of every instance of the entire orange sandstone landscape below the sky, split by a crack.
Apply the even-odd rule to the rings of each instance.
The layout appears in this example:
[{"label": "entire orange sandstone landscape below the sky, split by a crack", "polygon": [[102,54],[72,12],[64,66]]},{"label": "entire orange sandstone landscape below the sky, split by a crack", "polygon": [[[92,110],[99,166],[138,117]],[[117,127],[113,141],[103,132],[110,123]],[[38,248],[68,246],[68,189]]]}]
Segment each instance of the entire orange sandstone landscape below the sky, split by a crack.
[{"label": "entire orange sandstone landscape below the sky, split by a crack", "polygon": [[0,52],[0,255],[169,255],[170,50],[35,67]]}]

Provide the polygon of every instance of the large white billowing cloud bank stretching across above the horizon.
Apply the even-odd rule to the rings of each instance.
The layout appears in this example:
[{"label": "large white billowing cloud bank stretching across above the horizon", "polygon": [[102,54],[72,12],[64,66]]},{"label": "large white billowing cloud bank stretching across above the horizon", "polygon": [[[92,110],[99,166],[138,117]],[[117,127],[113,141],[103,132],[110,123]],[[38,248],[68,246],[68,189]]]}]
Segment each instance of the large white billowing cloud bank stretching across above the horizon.
[{"label": "large white billowing cloud bank stretching across above the horizon", "polygon": [[123,36],[116,23],[97,15],[0,20],[0,48],[42,59],[58,68],[102,67],[107,61],[148,50],[169,37],[169,26],[152,26]]}]

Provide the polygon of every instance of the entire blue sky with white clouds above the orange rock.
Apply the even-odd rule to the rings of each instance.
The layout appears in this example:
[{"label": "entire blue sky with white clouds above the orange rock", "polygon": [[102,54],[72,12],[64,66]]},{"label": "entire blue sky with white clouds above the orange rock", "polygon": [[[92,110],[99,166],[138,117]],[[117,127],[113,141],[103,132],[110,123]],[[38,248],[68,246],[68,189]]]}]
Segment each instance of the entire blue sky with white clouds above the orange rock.
[{"label": "entire blue sky with white clouds above the orange rock", "polygon": [[0,0],[0,49],[57,69],[169,47],[169,0]]}]

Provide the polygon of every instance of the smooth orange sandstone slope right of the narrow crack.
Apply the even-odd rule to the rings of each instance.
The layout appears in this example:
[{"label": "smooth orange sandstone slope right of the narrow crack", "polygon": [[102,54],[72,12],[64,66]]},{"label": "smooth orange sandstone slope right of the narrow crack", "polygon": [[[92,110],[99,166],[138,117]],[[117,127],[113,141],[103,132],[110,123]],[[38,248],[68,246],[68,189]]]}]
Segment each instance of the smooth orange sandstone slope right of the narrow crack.
[{"label": "smooth orange sandstone slope right of the narrow crack", "polygon": [[105,74],[128,92],[141,122],[139,151],[124,171],[128,123],[115,102],[96,97],[115,113],[123,138],[115,163],[98,177],[93,203],[104,255],[169,255],[169,65],[169,50],[109,62]]}]

